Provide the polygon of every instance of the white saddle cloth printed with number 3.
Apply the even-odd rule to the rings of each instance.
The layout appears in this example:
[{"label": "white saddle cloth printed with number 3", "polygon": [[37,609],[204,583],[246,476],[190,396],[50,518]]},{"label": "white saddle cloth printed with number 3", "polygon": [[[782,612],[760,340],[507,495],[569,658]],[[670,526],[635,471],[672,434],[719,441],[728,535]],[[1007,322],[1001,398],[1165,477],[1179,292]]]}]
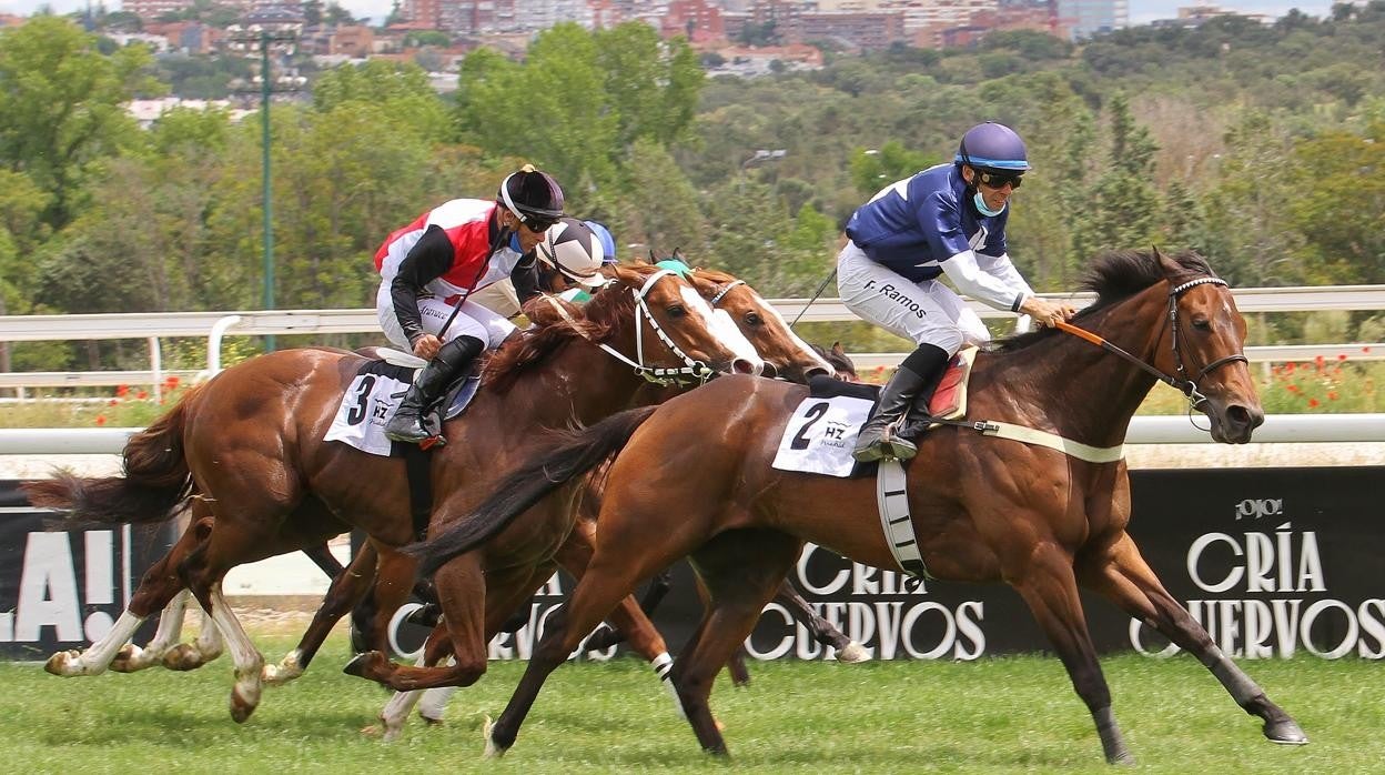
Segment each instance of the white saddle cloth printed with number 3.
[{"label": "white saddle cloth printed with number 3", "polygon": [[[339,441],[382,458],[399,458],[404,453],[404,445],[385,438],[385,423],[393,416],[399,401],[403,399],[409,385],[414,381],[417,369],[388,363],[385,360],[368,360],[357,372],[342,402],[337,408],[332,424],[327,428],[323,441]],[[481,376],[468,373],[456,380],[447,388],[447,399],[439,402],[424,416],[424,426],[428,433],[438,435],[446,420],[461,415],[476,395],[481,385]],[[443,406],[447,408],[443,413]]]}]

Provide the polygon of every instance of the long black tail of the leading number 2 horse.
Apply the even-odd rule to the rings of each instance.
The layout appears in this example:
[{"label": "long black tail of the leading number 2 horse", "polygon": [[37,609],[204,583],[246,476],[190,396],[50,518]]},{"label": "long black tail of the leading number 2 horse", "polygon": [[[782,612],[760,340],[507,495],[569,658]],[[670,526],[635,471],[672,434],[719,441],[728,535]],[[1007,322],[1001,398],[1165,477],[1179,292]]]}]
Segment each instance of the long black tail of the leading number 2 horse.
[{"label": "long black tail of the leading number 2 horse", "polygon": [[494,495],[470,517],[429,541],[411,543],[402,550],[418,560],[421,575],[432,575],[447,560],[489,541],[554,489],[590,471],[609,455],[625,448],[655,409],[656,406],[630,409],[589,428],[564,434],[561,441],[543,456],[501,480],[494,487]]}]

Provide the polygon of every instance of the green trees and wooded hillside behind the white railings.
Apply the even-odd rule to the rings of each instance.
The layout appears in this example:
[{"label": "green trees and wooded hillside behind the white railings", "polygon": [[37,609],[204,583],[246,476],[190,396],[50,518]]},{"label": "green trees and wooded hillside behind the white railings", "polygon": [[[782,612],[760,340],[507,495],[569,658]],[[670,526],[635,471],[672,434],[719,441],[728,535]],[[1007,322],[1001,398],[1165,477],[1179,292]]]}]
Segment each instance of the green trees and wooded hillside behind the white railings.
[{"label": "green trees and wooded hillside behind the white railings", "polygon": [[[446,97],[413,65],[346,65],[319,73],[310,101],[271,108],[276,298],[367,306],[389,230],[492,197],[525,161],[626,256],[679,248],[767,295],[807,295],[852,209],[949,159],[983,119],[1029,141],[1011,248],[1042,290],[1073,287],[1100,251],[1150,244],[1195,248],[1240,286],[1382,283],[1379,40],[1373,0],[1080,47],[1003,33],[831,55],[753,80],[706,79],[684,42],[640,24],[560,25],[524,62],[479,50]],[[108,43],[55,17],[0,33],[0,313],[258,308],[258,116],[172,111],[141,130],[122,105],[166,86],[145,49]],[[66,344],[14,359],[123,365]]]}]

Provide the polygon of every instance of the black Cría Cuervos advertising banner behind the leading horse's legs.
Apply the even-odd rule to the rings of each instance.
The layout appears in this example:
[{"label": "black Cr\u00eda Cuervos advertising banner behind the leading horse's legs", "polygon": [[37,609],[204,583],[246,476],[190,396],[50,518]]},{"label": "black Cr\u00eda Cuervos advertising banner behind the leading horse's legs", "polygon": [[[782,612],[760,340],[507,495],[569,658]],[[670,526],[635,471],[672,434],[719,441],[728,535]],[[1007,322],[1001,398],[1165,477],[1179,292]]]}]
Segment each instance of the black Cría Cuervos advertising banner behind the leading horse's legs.
[{"label": "black Cr\u00eda Cuervos advertising banner behind the leading horse's legs", "polygon": [[[1381,485],[1385,467],[1133,471],[1129,532],[1174,599],[1227,654],[1378,660],[1385,657]],[[875,521],[874,514],[853,519]],[[812,545],[789,578],[874,659],[1048,650],[1029,609],[1006,585],[920,584]],[[522,611],[529,624],[496,638],[490,656],[526,659],[571,589],[571,580],[554,577]],[[1176,650],[1098,595],[1083,593],[1083,604],[1100,652]],[[691,571],[680,563],[654,617],[674,653],[701,611]],[[774,602],[747,650],[759,659],[828,656]]]}]

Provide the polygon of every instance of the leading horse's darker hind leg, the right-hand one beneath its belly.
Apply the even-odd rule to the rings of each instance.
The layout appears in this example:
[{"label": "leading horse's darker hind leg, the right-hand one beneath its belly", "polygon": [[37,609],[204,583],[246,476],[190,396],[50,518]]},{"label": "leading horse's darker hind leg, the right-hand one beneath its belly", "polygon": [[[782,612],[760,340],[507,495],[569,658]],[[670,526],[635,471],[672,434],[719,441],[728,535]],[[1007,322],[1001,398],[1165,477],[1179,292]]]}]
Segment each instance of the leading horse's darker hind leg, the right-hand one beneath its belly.
[{"label": "leading horse's darker hind leg, the right-hand one beneath its belly", "polygon": [[716,674],[755,629],[802,545],[778,531],[735,530],[717,535],[692,555],[692,567],[706,584],[711,604],[673,665],[673,683],[688,724],[708,753],[727,753],[708,704]]}]

